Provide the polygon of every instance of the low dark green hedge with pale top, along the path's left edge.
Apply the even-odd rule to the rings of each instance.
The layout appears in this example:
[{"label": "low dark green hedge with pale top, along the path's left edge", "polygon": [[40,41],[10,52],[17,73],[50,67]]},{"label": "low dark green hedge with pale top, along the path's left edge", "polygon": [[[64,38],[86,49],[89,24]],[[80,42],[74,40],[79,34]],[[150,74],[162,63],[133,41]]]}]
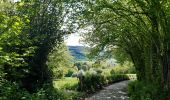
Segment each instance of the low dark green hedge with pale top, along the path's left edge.
[{"label": "low dark green hedge with pale top, along the path's left edge", "polygon": [[79,88],[80,91],[87,93],[96,92],[102,89],[104,85],[108,85],[114,82],[128,80],[128,76],[125,74],[102,74],[96,71],[87,71],[84,76],[79,77]]}]

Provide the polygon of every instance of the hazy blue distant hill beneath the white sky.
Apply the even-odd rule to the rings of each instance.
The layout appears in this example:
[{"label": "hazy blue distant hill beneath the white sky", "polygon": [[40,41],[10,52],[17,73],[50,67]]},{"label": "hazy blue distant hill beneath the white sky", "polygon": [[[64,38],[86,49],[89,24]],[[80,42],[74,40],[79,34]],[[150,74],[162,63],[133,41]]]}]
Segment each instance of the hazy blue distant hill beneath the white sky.
[{"label": "hazy blue distant hill beneath the white sky", "polygon": [[74,57],[76,61],[85,61],[87,57],[85,55],[85,48],[84,46],[68,46],[71,55]]}]

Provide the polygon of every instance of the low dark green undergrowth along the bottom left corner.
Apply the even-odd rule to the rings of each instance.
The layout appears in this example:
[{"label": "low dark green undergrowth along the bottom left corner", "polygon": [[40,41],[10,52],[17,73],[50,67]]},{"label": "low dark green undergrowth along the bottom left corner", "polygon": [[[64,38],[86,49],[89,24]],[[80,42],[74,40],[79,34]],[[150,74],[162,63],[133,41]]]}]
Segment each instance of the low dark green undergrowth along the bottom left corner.
[{"label": "low dark green undergrowth along the bottom left corner", "polygon": [[67,96],[50,85],[44,85],[36,93],[29,93],[19,84],[7,80],[0,81],[0,100],[67,100]]}]

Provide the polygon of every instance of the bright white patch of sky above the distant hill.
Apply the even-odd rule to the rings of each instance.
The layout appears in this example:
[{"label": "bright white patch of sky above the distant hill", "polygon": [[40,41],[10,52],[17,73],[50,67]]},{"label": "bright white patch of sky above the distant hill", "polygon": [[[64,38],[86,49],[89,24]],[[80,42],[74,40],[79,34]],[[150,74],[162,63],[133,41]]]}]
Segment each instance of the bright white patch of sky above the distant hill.
[{"label": "bright white patch of sky above the distant hill", "polygon": [[68,36],[67,39],[65,39],[65,43],[68,46],[83,46],[83,44],[80,43],[81,37],[76,34],[71,34]]}]

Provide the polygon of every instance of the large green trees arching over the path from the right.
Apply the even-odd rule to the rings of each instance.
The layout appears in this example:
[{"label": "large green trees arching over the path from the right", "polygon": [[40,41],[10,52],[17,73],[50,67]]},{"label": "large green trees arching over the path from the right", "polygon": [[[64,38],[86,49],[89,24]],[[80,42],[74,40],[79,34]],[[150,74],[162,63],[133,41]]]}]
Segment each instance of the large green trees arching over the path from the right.
[{"label": "large green trees arching over the path from the right", "polygon": [[91,26],[91,32],[85,34],[86,41],[95,51],[121,48],[131,57],[138,80],[163,84],[168,89],[168,4],[163,0],[83,2],[84,26]]}]

